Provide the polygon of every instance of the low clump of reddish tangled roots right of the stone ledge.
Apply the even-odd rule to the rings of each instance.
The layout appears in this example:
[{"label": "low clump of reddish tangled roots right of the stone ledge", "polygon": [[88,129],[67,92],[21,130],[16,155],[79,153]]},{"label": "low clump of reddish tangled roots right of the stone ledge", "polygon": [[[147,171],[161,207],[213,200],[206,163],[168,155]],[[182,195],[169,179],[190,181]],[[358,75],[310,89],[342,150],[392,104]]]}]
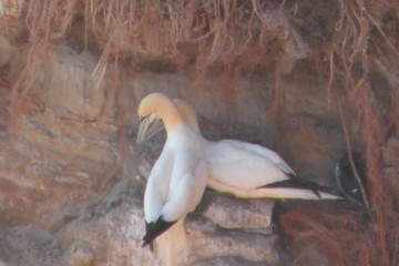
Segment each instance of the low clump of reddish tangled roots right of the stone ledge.
[{"label": "low clump of reddish tangled roots right of the stone ledge", "polygon": [[365,234],[370,228],[361,217],[306,208],[284,213],[279,224],[286,236],[293,239],[291,248],[300,254],[289,265],[307,265],[307,256],[314,257],[311,252],[315,249],[335,266],[376,263],[375,247]]}]

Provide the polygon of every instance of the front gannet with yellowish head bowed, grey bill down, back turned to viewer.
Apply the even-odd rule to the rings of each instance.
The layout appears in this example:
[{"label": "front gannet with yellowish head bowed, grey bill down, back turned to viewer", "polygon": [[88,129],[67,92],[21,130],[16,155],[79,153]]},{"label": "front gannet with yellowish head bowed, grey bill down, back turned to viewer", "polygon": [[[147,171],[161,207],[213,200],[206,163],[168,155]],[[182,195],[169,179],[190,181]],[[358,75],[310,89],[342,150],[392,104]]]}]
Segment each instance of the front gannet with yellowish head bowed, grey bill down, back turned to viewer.
[{"label": "front gannet with yellowish head bowed, grey bill down, back turned to viewer", "polygon": [[[206,187],[207,167],[202,139],[185,123],[170,98],[162,93],[145,96],[139,105],[139,144],[156,131],[158,120],[167,134],[145,187],[144,247],[195,209]],[[183,223],[178,224],[183,227]]]}]

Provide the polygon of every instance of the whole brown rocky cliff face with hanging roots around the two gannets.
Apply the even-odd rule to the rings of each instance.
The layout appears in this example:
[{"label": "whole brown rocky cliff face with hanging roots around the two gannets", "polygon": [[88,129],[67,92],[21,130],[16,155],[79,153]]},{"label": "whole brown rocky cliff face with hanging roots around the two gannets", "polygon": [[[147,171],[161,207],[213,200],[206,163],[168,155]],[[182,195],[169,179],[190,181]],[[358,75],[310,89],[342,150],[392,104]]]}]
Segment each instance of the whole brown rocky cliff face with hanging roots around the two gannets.
[{"label": "whole brown rocky cliff face with hanging roots around the two gannets", "polygon": [[142,198],[164,135],[135,145],[156,91],[192,103],[206,139],[272,147],[319,184],[348,150],[367,163],[369,224],[291,203],[284,238],[273,202],[207,192],[190,264],[395,265],[398,4],[188,2],[0,0],[0,266],[160,264]]}]

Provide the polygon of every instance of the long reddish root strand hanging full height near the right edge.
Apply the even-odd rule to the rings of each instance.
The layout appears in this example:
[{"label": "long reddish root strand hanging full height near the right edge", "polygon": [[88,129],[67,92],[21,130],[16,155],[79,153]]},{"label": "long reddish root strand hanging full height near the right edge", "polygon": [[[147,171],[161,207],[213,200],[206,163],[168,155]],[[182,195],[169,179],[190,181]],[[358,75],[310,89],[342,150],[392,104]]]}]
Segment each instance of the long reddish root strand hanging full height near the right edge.
[{"label": "long reddish root strand hanging full height near the right edge", "polygon": [[[378,247],[378,265],[388,266],[390,259],[387,244],[387,221],[385,208],[387,198],[382,195],[383,180],[381,166],[381,123],[377,112],[376,99],[372,94],[369,82],[369,59],[368,42],[370,29],[374,27],[382,35],[387,47],[398,57],[398,51],[390,42],[389,38],[381,30],[380,25],[367,10],[365,2],[360,0],[339,1],[340,18],[336,24],[336,30],[342,32],[339,49],[330,55],[330,76],[328,80],[328,95],[331,94],[331,86],[335,83],[344,84],[345,93],[340,92],[337,101],[345,131],[348,153],[350,153],[350,141],[344,117],[342,106],[354,106],[358,113],[365,156],[368,170],[368,182],[370,187],[370,207],[374,209],[375,242]],[[336,55],[336,57],[334,57]],[[337,63],[334,63],[334,58]],[[334,66],[336,70],[332,72]],[[332,76],[332,78],[331,78]],[[342,81],[341,83],[339,81]],[[328,96],[330,99],[330,96]],[[356,175],[358,178],[358,175]],[[362,192],[366,200],[366,194]]]}]

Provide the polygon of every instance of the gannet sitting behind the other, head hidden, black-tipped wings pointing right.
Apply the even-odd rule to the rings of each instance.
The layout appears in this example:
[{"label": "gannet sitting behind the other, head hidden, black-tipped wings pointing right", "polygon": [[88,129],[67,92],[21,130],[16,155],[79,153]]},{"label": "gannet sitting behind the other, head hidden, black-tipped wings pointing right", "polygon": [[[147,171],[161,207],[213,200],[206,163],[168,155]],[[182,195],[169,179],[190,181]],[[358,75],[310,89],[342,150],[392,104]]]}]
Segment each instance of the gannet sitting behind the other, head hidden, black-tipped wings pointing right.
[{"label": "gannet sitting behind the other, head hidden, black-tipped wings pointing right", "polygon": [[[193,108],[183,100],[173,101],[186,123],[202,137]],[[203,140],[209,174],[207,185],[215,191],[245,198],[341,198],[332,188],[298,178],[276,152],[264,146],[235,140]]]}]

